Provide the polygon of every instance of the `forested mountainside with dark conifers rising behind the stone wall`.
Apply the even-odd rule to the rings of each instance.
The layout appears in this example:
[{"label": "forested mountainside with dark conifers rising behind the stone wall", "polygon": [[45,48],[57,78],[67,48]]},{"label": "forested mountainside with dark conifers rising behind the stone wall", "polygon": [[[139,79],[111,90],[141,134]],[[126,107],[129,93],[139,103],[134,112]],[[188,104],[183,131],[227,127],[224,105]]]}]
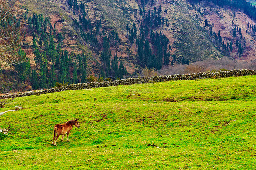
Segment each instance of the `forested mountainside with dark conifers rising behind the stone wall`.
[{"label": "forested mountainside with dark conifers rising behind the stone wall", "polygon": [[[1,72],[0,92],[51,88],[227,56],[255,60],[246,0],[22,0],[30,59]],[[57,83],[58,82],[58,83]],[[57,83],[57,84],[56,84]]]}]

